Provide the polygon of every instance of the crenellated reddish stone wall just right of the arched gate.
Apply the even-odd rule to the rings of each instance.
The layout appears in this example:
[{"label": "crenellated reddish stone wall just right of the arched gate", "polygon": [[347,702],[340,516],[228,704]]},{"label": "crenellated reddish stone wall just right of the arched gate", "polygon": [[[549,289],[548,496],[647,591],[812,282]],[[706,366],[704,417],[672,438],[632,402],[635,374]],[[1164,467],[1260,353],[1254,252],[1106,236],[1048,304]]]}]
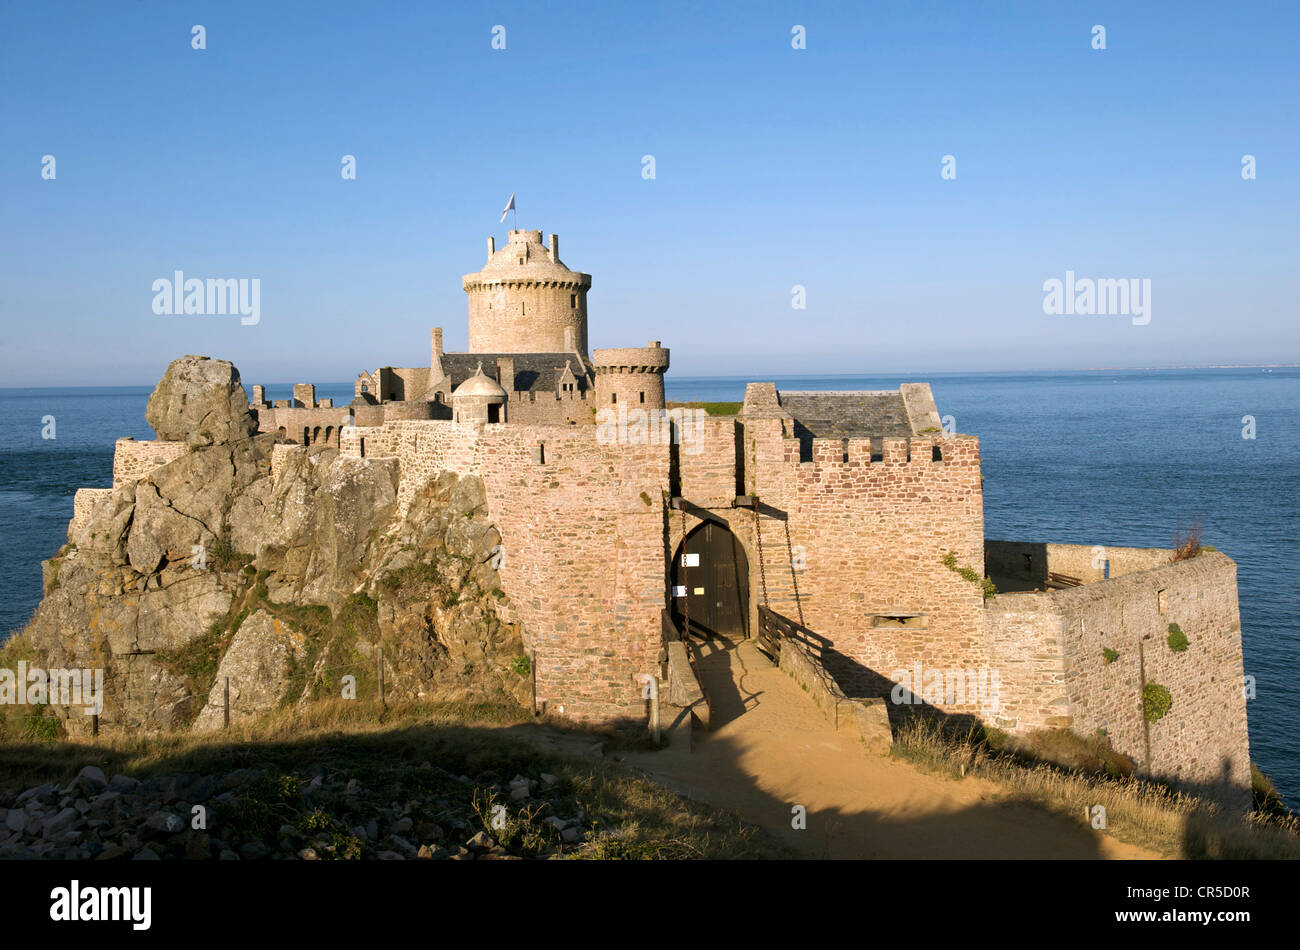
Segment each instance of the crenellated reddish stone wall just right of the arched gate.
[{"label": "crenellated reddish stone wall just right of the arched gate", "polygon": [[[848,691],[880,695],[894,671],[916,663],[987,668],[983,591],[944,565],[952,552],[957,567],[983,576],[978,439],[887,438],[879,461],[870,439],[812,439],[812,460],[801,463],[783,420],[746,418],[744,431],[770,606],[792,619],[802,607],[802,623],[827,638],[827,668]],[[758,602],[755,548],[751,538]],[[909,617],[907,625],[889,617]],[[950,711],[978,712],[978,703]]]}]

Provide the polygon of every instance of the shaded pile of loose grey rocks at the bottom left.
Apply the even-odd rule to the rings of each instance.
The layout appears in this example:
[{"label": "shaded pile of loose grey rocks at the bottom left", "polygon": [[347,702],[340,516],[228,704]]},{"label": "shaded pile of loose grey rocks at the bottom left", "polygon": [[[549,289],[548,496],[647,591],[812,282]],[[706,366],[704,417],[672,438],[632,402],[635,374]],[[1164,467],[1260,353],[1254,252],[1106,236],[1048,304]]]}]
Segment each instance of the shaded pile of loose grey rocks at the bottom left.
[{"label": "shaded pile of loose grey rocks at the bottom left", "polygon": [[0,794],[0,859],[556,859],[593,824],[545,772],[503,781],[424,763],[378,782],[325,765],[139,781],[87,765],[66,786]]}]

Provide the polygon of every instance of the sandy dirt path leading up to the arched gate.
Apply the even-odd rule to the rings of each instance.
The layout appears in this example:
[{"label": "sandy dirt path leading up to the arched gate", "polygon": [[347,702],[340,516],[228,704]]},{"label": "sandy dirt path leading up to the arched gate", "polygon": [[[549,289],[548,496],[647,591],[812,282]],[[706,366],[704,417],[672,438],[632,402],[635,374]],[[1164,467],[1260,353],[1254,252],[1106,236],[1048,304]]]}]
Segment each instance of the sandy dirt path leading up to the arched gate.
[{"label": "sandy dirt path leading up to the arched gate", "polygon": [[[952,781],[867,754],[841,736],[751,642],[701,664],[712,732],[694,751],[624,762],[698,801],[732,808],[809,858],[1160,858],[1082,821],[1004,802],[982,778]],[[792,808],[807,827],[790,827]],[[1082,806],[1080,806],[1082,807]]]}]

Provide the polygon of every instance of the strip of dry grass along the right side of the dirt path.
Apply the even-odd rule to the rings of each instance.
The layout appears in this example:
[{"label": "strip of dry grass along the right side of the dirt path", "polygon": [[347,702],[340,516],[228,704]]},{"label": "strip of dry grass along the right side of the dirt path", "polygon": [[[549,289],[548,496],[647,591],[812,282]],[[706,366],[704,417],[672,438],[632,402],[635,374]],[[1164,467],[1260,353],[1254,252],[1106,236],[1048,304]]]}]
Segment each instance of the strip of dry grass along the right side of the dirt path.
[{"label": "strip of dry grass along the right side of the dirt path", "polygon": [[905,725],[894,737],[894,754],[953,778],[987,778],[1015,801],[1075,820],[1100,804],[1108,834],[1170,858],[1300,858],[1300,823],[1295,817],[1234,817],[1202,798],[1131,776],[1027,764],[1023,756],[998,751],[974,733],[945,734],[932,721],[918,719]]}]

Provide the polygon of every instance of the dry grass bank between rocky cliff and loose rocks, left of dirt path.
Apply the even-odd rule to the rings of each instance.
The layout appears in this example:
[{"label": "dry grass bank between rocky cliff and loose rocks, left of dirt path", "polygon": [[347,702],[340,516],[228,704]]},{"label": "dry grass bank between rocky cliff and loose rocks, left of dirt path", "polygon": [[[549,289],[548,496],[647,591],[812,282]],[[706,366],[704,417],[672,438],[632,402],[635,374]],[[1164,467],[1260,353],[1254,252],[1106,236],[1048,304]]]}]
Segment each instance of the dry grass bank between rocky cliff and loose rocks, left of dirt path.
[{"label": "dry grass bank between rocky cliff and loose rocks, left of dirt path", "polygon": [[[534,741],[543,732],[550,737],[546,745]],[[420,781],[428,764],[451,775],[491,775],[493,781],[545,771],[560,778],[575,806],[595,817],[589,843],[569,856],[788,856],[779,842],[732,812],[679,797],[607,759],[556,751],[555,739],[573,749],[640,742],[616,728],[538,725],[526,711],[506,704],[384,708],[373,702],[332,699],[282,708],[214,733],[105,734],[94,742],[64,739],[53,745],[0,742],[0,786],[14,791],[44,781],[66,782],[87,764],[107,775],[142,780],[181,772],[224,775],[239,768],[302,776],[324,765],[346,771],[377,790]],[[482,794],[478,778],[463,788],[467,797]],[[469,810],[469,799],[460,806]]]}]

